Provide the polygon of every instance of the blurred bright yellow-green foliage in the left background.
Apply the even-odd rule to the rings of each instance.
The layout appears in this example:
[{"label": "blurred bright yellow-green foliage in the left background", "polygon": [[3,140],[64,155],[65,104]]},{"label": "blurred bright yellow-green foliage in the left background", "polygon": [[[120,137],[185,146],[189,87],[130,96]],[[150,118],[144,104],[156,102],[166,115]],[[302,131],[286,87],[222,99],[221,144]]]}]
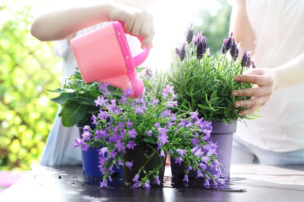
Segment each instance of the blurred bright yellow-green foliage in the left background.
[{"label": "blurred bright yellow-green foliage in the left background", "polygon": [[0,23],[0,170],[39,162],[58,109],[49,100],[56,93],[44,88],[60,87],[60,59],[52,43],[31,36],[30,11],[0,7],[7,17]]}]

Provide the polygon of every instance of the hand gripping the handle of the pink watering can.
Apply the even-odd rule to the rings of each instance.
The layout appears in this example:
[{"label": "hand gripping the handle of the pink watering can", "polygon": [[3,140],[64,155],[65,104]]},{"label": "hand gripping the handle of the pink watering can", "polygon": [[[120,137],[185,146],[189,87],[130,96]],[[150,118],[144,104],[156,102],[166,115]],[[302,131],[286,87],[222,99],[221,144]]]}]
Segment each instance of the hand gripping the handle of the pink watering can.
[{"label": "hand gripping the handle of the pink watering can", "polygon": [[141,48],[145,48],[153,40],[153,16],[145,10],[115,4],[109,11],[109,21],[123,22],[127,34],[142,37]]}]

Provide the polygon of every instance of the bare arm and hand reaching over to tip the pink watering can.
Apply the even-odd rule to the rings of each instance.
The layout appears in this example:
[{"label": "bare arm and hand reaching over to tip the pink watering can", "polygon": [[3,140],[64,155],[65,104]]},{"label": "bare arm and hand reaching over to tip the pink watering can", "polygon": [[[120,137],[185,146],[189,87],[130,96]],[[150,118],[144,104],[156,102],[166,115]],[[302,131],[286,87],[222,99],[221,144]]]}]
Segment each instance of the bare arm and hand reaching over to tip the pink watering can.
[{"label": "bare arm and hand reaching over to tip the pink watering can", "polygon": [[43,14],[33,21],[31,34],[41,41],[61,40],[86,27],[116,20],[125,23],[127,34],[144,38],[142,48],[151,43],[154,37],[152,16],[144,10],[113,3]]}]

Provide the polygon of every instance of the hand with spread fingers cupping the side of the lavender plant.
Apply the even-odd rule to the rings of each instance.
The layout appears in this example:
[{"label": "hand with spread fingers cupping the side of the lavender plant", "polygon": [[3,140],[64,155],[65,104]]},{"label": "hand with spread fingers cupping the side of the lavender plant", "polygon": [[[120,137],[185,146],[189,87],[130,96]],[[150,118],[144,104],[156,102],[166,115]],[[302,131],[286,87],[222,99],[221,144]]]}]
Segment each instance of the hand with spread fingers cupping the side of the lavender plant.
[{"label": "hand with spread fingers cupping the side of the lavender plant", "polygon": [[234,96],[252,97],[247,100],[238,100],[234,103],[236,107],[248,107],[239,112],[240,116],[246,116],[264,106],[275,90],[276,73],[269,68],[249,69],[243,75],[234,77],[235,81],[256,84],[253,88],[234,90]]}]

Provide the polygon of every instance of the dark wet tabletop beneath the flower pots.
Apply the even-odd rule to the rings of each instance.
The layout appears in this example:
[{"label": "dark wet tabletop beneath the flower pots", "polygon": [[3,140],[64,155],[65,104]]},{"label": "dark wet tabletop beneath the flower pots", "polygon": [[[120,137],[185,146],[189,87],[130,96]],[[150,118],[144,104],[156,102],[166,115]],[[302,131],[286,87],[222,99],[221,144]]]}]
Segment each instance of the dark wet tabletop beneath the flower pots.
[{"label": "dark wet tabletop beneath the flower pots", "polygon": [[0,193],[0,201],[304,201],[304,165],[232,165],[224,187],[179,183],[170,177],[170,167],[165,175],[162,187],[149,190],[125,187],[120,177],[108,184],[111,188],[100,188],[81,166],[41,166]]}]

